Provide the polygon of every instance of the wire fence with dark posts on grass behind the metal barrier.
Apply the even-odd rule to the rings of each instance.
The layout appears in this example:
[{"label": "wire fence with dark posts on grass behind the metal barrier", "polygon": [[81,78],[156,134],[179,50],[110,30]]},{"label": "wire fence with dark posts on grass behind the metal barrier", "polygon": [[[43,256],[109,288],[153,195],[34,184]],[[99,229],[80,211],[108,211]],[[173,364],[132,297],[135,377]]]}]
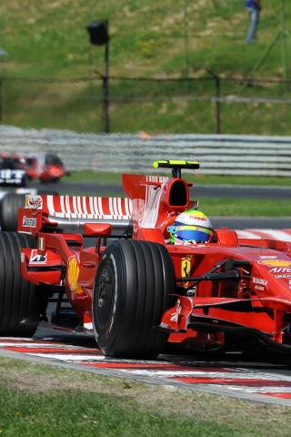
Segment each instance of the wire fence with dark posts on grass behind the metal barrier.
[{"label": "wire fence with dark posts on grass behind the metal barrier", "polygon": [[288,136],[290,104],[278,78],[0,76],[0,123],[78,132]]}]

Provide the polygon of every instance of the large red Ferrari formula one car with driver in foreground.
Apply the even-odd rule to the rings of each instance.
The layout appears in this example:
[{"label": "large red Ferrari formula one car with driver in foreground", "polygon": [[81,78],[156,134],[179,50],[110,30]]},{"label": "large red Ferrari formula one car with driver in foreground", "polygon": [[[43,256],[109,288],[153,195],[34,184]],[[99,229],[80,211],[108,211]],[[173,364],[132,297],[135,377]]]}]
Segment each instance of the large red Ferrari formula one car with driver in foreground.
[{"label": "large red Ferrari formula one car with driver in foreground", "polygon": [[[0,335],[45,324],[95,335],[105,355],[126,358],[156,357],[168,343],[290,352],[290,244],[209,228],[181,176],[199,164],[154,167],[172,177],[125,174],[127,198],[26,196],[18,232],[0,233]],[[201,223],[179,234],[189,210]],[[193,229],[197,240],[184,241]]]}]

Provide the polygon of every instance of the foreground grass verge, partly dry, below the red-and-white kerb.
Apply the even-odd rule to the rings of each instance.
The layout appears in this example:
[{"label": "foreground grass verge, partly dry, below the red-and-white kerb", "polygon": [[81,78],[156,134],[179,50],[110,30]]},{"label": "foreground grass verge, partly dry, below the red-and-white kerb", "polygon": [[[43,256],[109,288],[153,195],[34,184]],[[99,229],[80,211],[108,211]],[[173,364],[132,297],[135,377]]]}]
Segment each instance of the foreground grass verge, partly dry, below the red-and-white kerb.
[{"label": "foreground grass verge, partly dry, below the red-and-white kerb", "polygon": [[289,435],[286,407],[5,358],[0,396],[4,437]]}]

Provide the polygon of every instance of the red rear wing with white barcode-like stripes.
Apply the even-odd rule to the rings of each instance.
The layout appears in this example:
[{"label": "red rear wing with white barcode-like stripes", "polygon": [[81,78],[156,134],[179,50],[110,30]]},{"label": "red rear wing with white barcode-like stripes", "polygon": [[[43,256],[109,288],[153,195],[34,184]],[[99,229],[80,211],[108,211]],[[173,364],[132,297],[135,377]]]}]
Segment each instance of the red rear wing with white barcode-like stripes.
[{"label": "red rear wing with white barcode-like stripes", "polygon": [[130,231],[131,218],[129,198],[26,195],[17,230],[36,235],[43,229],[82,231],[86,223],[104,223],[111,225],[115,236]]}]

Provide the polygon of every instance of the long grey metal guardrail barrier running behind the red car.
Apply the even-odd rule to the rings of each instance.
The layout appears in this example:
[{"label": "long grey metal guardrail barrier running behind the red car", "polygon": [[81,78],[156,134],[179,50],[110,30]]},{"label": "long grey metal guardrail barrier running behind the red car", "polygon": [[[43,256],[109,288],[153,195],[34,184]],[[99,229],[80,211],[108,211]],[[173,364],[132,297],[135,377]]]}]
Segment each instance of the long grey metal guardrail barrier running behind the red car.
[{"label": "long grey metal guardrail barrier running behind the red car", "polygon": [[202,175],[291,176],[291,137],[77,134],[0,125],[0,151],[55,152],[70,170],[149,174],[156,159],[196,159]]}]

